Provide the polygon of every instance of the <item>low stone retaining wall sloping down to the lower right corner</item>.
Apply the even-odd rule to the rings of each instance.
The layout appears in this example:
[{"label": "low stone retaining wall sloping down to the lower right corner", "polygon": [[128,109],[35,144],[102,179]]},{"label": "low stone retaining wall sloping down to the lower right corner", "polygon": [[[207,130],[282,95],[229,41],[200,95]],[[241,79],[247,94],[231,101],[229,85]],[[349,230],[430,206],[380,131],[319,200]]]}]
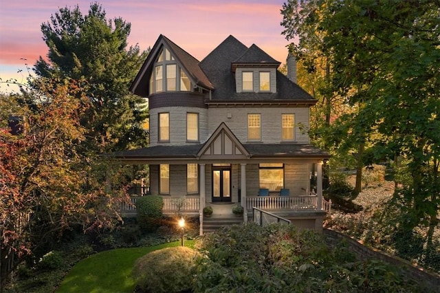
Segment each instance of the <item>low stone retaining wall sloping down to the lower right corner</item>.
[{"label": "low stone retaining wall sloping down to the lower right corner", "polygon": [[428,272],[417,265],[412,265],[412,263],[405,259],[386,254],[385,252],[374,248],[368,248],[355,239],[339,232],[324,229],[323,234],[325,235],[329,246],[335,246],[340,241],[344,241],[347,243],[349,250],[353,251],[358,259],[379,259],[391,263],[392,265],[396,265],[404,270],[406,277],[417,281],[417,283],[425,287],[427,291],[440,292],[440,276],[438,274]]}]

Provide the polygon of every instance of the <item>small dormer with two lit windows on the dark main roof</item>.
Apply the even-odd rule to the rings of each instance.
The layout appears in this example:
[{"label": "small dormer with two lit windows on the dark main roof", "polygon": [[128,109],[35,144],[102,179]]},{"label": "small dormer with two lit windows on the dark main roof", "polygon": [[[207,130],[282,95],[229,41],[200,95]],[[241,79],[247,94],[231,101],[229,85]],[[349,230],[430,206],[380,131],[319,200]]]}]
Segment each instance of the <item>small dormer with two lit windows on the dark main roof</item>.
[{"label": "small dormer with two lit windows on the dark main roof", "polygon": [[276,69],[281,63],[253,44],[231,65],[237,93],[276,93]]}]

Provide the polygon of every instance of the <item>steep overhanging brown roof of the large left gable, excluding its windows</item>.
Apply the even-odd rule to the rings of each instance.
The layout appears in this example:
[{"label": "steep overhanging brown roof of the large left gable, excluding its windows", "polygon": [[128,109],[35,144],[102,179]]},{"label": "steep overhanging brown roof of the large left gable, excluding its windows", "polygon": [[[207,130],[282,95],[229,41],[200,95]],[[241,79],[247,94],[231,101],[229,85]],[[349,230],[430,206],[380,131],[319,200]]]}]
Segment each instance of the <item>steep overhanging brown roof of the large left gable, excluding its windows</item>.
[{"label": "steep overhanging brown roof of the large left gable, excluding its windows", "polygon": [[170,51],[171,55],[173,55],[177,63],[184,68],[186,74],[188,74],[188,77],[193,83],[206,89],[213,89],[212,84],[200,69],[199,61],[161,34],[153,45],[150,54],[146,57],[140,71],[137,72],[133,83],[131,83],[129,90],[133,94],[144,97],[148,96],[149,76],[151,75],[153,65],[162,47],[166,47]]}]

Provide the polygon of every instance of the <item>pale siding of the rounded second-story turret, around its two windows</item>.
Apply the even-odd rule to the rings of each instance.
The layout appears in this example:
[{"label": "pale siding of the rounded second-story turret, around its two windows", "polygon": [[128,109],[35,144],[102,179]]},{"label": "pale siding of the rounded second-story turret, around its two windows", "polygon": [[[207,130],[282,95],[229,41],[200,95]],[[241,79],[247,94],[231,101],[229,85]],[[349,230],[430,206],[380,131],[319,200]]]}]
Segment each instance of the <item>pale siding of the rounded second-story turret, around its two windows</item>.
[{"label": "pale siding of the rounded second-story turret, around its two windows", "polygon": [[[170,115],[170,142],[157,141],[159,113],[169,113]],[[208,139],[207,109],[198,107],[162,107],[150,109],[150,146],[188,144],[186,142],[186,113],[199,113],[199,142],[205,142]]]}]

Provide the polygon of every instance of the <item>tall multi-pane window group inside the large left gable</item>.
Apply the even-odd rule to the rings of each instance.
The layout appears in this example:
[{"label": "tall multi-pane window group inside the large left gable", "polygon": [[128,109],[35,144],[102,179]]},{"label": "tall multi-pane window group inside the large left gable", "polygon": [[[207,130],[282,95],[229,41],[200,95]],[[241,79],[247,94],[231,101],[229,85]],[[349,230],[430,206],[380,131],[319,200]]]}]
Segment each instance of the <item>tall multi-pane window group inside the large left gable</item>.
[{"label": "tall multi-pane window group inside the large left gable", "polygon": [[157,56],[151,72],[149,86],[150,94],[162,91],[191,91],[188,75],[166,48]]}]

